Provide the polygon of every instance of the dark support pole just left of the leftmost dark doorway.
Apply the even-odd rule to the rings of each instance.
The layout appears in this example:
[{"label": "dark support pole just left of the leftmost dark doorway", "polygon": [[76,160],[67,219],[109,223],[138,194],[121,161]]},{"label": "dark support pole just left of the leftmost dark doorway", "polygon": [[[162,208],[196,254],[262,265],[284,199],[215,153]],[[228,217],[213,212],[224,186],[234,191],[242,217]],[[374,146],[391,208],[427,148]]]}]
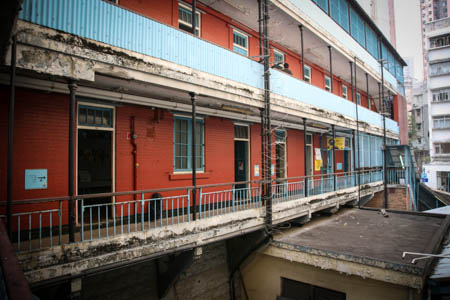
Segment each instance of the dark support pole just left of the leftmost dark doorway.
[{"label": "dark support pole just left of the leftmost dark doorway", "polygon": [[75,114],[76,91],[78,85],[75,81],[69,83],[70,109],[69,109],[69,242],[75,242],[75,199],[74,199],[74,171],[75,171]]}]

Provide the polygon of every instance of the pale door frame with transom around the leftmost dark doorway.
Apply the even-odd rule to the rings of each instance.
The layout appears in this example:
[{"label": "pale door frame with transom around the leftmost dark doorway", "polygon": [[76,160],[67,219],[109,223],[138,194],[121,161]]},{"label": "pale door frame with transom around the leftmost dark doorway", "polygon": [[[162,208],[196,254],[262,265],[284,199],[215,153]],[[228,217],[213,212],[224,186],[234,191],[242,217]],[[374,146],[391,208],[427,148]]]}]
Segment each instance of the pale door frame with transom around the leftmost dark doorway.
[{"label": "pale door frame with transom around the leftmost dark doorway", "polygon": [[[101,107],[112,109],[112,128],[105,127],[97,127],[97,126],[83,126],[78,124],[78,112],[80,109],[80,105],[92,106],[92,107]],[[92,103],[88,101],[77,101],[77,110],[76,110],[76,141],[75,141],[75,195],[78,196],[78,131],[79,129],[83,130],[100,130],[100,131],[110,131],[111,132],[111,192],[114,193],[116,191],[116,107],[113,105],[105,105]],[[116,202],[116,197],[111,197],[112,204]],[[75,202],[75,220],[78,225],[78,202]]]}]

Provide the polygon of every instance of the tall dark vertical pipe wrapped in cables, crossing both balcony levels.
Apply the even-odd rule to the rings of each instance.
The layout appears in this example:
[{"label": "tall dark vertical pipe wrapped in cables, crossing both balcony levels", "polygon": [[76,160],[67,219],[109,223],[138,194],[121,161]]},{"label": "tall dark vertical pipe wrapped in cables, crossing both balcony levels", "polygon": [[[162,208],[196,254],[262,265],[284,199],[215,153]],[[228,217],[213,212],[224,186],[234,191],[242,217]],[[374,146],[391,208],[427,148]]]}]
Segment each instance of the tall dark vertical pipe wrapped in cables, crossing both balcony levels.
[{"label": "tall dark vertical pipe wrapped in cables, crossing both balcony levels", "polygon": [[270,65],[269,65],[269,39],[268,39],[268,21],[269,21],[269,9],[268,1],[264,0],[263,6],[263,37],[264,37],[264,136],[266,138],[266,173],[265,173],[265,185],[266,185],[266,230],[272,237],[272,128],[270,124]]}]

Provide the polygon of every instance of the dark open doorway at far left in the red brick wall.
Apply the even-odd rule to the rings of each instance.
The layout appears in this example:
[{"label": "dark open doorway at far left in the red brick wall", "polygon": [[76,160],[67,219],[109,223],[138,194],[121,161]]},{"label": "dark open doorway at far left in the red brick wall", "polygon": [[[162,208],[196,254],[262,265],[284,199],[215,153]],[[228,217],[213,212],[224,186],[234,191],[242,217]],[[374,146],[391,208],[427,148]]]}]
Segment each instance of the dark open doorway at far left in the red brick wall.
[{"label": "dark open doorway at far left in the red brick wall", "polygon": [[[112,131],[79,129],[78,195],[110,192],[112,192]],[[84,205],[105,203],[111,203],[111,197],[84,201]]]}]

